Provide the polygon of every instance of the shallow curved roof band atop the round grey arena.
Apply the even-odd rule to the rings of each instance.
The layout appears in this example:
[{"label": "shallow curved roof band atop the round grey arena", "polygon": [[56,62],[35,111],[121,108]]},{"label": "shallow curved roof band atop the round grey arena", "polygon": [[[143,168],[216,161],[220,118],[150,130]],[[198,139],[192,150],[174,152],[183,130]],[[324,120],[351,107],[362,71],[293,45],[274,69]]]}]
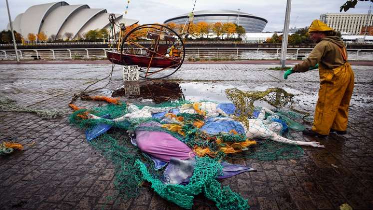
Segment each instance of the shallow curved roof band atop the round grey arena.
[{"label": "shallow curved roof band atop the round grey arena", "polygon": [[[256,18],[256,19],[261,19],[261,20],[265,21],[266,23],[268,23],[267,19],[265,19],[263,17],[259,17],[259,16],[256,16],[254,14],[249,14],[249,13],[242,12],[242,11],[234,11],[234,10],[228,10],[228,9],[194,11],[194,16],[195,17],[198,17],[198,16],[238,16],[238,15],[240,15],[242,17],[252,17],[252,18]],[[188,17],[188,16],[189,16],[189,13],[180,14],[178,16],[166,19],[164,21],[164,23],[172,21],[174,19],[185,18],[185,17]]]}]

